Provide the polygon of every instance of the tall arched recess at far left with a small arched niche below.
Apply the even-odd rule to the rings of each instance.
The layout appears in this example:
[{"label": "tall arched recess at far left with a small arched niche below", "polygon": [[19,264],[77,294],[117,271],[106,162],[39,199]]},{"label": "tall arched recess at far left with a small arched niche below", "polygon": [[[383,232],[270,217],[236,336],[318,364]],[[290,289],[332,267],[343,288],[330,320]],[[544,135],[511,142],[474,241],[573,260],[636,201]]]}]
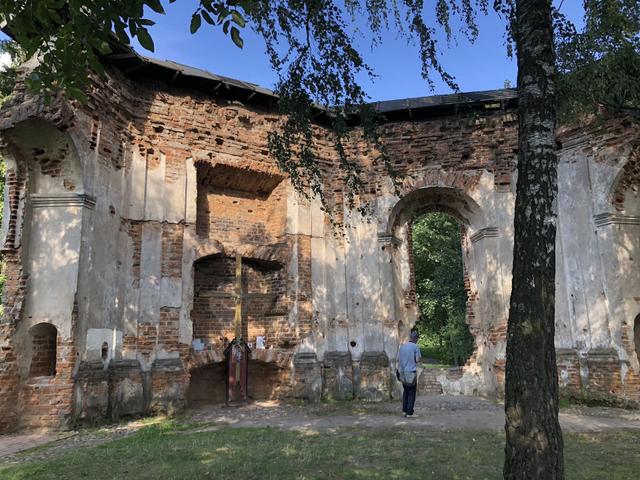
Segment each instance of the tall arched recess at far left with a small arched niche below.
[{"label": "tall arched recess at far left with a small arched niche below", "polygon": [[12,320],[8,324],[15,325],[5,332],[12,337],[6,341],[21,348],[16,349],[17,368],[6,369],[18,378],[0,375],[0,382],[16,385],[14,400],[0,407],[9,411],[17,405],[19,424],[59,427],[71,413],[69,392],[77,359],[71,352],[82,351],[84,345],[80,332],[88,324],[82,317],[87,298],[104,295],[100,288],[93,293],[79,279],[83,224],[95,199],[85,191],[73,134],[47,121],[26,120],[3,132],[3,139],[4,306]]}]

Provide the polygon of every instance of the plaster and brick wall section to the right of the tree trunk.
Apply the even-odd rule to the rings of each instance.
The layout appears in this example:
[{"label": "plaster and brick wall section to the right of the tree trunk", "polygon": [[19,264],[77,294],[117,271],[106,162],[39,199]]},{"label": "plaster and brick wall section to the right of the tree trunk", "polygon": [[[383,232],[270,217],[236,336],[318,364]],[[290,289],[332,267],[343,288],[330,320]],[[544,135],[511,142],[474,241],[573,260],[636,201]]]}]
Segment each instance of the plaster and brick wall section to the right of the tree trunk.
[{"label": "plaster and brick wall section to the right of the tree trunk", "polygon": [[639,133],[621,116],[559,135],[556,348],[576,395],[640,399]]}]

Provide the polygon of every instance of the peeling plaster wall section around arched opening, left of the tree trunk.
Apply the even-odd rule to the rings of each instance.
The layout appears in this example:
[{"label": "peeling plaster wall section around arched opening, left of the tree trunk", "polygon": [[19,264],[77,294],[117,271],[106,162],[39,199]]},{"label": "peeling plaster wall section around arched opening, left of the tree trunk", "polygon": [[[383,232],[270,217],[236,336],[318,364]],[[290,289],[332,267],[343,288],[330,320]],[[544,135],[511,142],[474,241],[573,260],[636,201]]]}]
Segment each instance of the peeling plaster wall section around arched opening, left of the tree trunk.
[{"label": "peeling plaster wall section around arched opening, left of the tree trunk", "polygon": [[468,227],[465,263],[480,299],[468,319],[477,353],[450,390],[496,391],[494,365],[504,360],[504,335],[496,332],[505,330],[511,284],[516,128],[515,116],[501,110],[390,124],[383,140],[400,175],[400,192],[376,163],[375,152],[359,144],[354,151],[367,172],[369,195],[363,201],[373,204],[372,218],[345,205],[344,236],[336,238],[322,221],[318,202],[312,204],[317,331],[308,349],[321,361],[327,354],[333,363],[339,354],[350,357],[352,377],[339,371],[337,381],[345,385],[336,391],[348,391],[350,382],[356,394],[358,384],[366,389],[367,380],[358,371],[369,353],[384,354],[393,372],[398,345],[417,321],[415,294],[410,293],[409,223],[428,210],[451,213]]}]

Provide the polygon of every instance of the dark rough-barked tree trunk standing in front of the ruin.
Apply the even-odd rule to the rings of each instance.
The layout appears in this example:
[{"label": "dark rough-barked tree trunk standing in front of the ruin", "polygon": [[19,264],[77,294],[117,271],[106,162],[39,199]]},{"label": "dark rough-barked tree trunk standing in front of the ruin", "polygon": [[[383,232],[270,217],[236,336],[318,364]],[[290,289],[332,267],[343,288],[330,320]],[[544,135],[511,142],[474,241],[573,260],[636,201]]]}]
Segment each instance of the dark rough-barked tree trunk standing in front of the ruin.
[{"label": "dark rough-barked tree trunk standing in front of the ruin", "polygon": [[505,479],[564,478],[555,336],[557,157],[551,0],[517,0],[519,149],[507,332]]}]

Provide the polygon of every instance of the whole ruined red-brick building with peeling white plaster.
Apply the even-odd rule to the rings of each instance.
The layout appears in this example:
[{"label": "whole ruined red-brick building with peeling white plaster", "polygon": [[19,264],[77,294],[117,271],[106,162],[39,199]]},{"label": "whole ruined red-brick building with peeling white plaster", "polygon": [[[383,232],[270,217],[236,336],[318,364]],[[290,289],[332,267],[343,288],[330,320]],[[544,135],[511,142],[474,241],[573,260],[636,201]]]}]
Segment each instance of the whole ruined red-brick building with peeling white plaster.
[{"label": "whole ruined red-brick building with peeling white plaster", "polygon": [[[268,156],[280,120],[255,85],[130,51],[84,104],[18,86],[0,113],[7,159],[0,428],[219,402],[233,337],[234,259],[253,398],[383,399],[416,321],[411,222],[464,225],[476,349],[446,392],[499,394],[511,286],[513,91],[381,102],[400,194],[360,140],[362,201],[345,206],[321,119],[339,234]],[[558,369],[563,391],[640,400],[640,127],[606,117],[560,132]]]}]

